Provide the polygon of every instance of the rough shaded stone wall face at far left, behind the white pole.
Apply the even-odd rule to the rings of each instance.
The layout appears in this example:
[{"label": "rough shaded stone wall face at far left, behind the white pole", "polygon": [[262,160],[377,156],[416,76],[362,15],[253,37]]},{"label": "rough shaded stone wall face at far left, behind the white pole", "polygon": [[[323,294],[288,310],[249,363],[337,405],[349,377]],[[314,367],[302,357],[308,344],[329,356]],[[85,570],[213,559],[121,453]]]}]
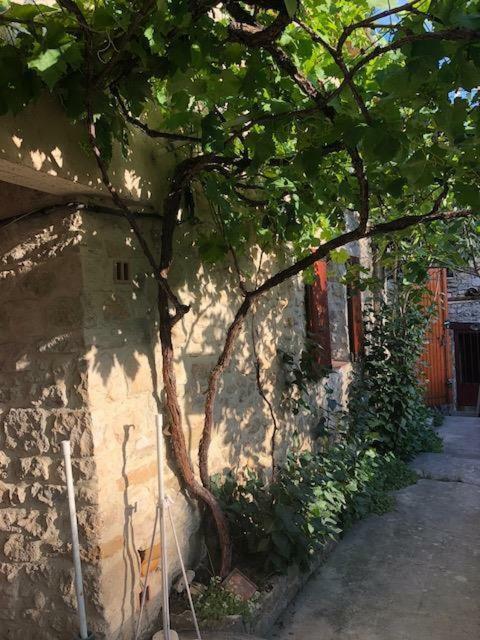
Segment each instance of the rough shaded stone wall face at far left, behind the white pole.
[{"label": "rough shaded stone wall face at far left, behind the white pole", "polygon": [[[7,202],[2,206],[6,207]],[[92,627],[98,593],[97,483],[83,358],[75,215],[0,235],[0,638],[76,628],[60,442],[73,443]]]}]

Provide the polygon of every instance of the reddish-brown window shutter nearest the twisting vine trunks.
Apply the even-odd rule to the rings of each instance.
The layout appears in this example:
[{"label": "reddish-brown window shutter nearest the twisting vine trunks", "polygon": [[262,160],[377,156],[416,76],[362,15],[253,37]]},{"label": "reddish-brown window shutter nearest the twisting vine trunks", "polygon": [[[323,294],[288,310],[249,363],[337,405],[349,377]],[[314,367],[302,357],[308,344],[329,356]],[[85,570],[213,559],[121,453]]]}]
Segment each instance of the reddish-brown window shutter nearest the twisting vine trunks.
[{"label": "reddish-brown window shutter nearest the twisting vine trunks", "polygon": [[328,316],[327,261],[314,264],[315,281],[305,286],[305,310],[307,336],[316,345],[315,355],[319,365],[331,367],[330,320]]}]

